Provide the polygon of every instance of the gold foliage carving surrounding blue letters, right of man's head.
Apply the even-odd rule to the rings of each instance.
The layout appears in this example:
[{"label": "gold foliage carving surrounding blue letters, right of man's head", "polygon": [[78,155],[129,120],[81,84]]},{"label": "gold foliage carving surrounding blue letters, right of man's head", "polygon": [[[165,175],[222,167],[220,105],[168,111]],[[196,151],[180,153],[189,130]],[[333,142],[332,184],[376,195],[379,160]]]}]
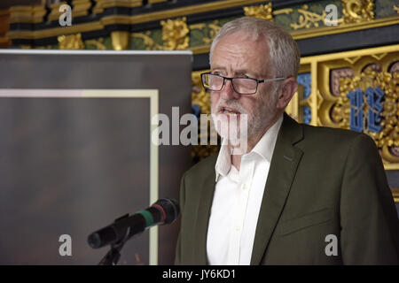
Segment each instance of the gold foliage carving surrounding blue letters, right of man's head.
[{"label": "gold foliage carving surrounding blue letters, right of man's head", "polygon": [[[356,123],[362,125],[360,129],[371,135],[377,147],[383,149],[382,157],[399,162],[399,73],[378,73],[365,68],[360,76],[341,79],[340,86],[335,112],[340,117],[340,126],[348,128],[353,124],[350,119],[358,118]],[[379,96],[370,97],[376,90]],[[351,94],[358,95],[356,99],[360,99],[360,103],[354,105],[350,101],[353,99]]]}]

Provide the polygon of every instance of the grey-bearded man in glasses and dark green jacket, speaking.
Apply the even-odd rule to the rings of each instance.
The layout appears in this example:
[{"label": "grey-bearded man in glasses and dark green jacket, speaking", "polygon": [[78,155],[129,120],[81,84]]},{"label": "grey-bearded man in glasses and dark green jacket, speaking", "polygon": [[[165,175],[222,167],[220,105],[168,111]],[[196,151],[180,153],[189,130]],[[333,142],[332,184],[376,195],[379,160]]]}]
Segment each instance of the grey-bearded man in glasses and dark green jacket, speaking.
[{"label": "grey-bearded man in glasses and dark green jacket, speaking", "polygon": [[247,146],[232,154],[227,142],[185,172],[176,264],[399,263],[395,203],[372,139],[284,113],[299,60],[270,21],[235,19],[215,36],[202,82],[216,130],[229,140],[223,128],[246,118]]}]

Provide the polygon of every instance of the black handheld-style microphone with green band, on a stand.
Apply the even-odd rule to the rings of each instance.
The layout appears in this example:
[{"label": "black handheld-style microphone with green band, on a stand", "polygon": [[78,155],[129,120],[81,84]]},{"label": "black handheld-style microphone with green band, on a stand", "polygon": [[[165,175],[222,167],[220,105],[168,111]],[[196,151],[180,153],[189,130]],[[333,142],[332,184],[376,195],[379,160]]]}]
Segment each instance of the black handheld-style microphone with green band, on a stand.
[{"label": "black handheld-style microphone with green band, on a stand", "polygon": [[147,228],[172,223],[179,214],[180,207],[175,200],[162,198],[145,210],[139,210],[132,216],[126,214],[117,218],[110,226],[90,233],[88,242],[91,248],[98,249],[119,241],[128,241]]}]

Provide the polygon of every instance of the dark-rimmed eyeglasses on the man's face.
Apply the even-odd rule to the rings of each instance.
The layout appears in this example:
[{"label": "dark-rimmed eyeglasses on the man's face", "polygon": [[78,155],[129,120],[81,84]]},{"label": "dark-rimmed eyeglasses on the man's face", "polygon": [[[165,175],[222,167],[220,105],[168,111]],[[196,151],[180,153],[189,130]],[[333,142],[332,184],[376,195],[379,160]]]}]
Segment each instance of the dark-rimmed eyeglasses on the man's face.
[{"label": "dark-rimmed eyeglasses on the man's face", "polygon": [[226,80],[231,80],[234,91],[239,95],[254,95],[258,90],[258,84],[268,81],[286,80],[286,78],[256,80],[252,78],[226,78],[210,72],[201,73],[202,85],[210,91],[221,91]]}]

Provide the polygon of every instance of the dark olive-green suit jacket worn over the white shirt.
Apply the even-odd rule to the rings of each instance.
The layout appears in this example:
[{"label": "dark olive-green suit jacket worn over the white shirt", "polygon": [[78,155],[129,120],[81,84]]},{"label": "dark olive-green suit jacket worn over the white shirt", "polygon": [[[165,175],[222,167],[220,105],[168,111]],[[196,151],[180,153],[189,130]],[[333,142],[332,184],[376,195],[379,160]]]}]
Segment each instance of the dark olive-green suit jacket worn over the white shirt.
[{"label": "dark olive-green suit jacket worn over the white shirt", "polygon": [[[216,156],[184,173],[176,264],[207,264]],[[325,248],[338,240],[338,255]],[[266,181],[251,264],[399,264],[399,221],[372,139],[286,114]]]}]

